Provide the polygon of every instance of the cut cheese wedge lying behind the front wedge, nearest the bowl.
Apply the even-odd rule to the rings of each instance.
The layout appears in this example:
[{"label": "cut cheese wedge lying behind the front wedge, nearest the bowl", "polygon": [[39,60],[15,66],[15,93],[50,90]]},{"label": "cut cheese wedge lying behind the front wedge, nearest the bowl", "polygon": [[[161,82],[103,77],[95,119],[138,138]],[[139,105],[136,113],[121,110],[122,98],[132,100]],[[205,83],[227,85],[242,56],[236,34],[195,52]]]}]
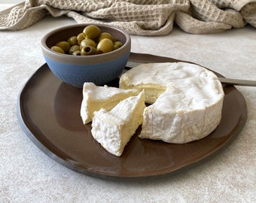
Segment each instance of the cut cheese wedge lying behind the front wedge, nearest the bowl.
[{"label": "cut cheese wedge lying behind the front wedge, nearest the bowl", "polygon": [[81,103],[81,118],[84,124],[93,120],[93,112],[100,108],[111,110],[124,98],[138,95],[136,89],[119,89],[111,86],[96,86],[94,83],[84,83],[83,101]]}]

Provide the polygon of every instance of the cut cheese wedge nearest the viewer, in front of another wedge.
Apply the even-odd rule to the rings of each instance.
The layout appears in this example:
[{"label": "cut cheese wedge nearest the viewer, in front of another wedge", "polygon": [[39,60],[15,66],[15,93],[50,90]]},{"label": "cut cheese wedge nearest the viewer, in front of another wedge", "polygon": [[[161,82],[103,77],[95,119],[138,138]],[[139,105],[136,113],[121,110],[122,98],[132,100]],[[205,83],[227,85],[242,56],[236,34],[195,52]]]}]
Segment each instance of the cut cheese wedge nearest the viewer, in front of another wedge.
[{"label": "cut cheese wedge nearest the viewer, in front of another wedge", "polygon": [[142,124],[145,109],[145,94],[126,98],[111,111],[102,108],[94,112],[92,135],[109,153],[120,156],[132,138],[136,129]]}]

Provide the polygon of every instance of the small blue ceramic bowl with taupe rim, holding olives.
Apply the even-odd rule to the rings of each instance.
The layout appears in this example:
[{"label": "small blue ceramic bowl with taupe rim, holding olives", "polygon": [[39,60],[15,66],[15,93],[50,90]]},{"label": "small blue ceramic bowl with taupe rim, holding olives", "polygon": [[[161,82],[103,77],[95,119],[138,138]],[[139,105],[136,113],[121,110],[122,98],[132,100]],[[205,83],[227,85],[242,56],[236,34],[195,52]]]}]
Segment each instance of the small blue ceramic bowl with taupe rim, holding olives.
[{"label": "small blue ceramic bowl with taupe rim, holding olives", "polygon": [[[54,44],[59,41],[67,41],[71,36],[77,36],[89,25],[99,26],[101,32],[109,32],[123,46],[108,53],[90,56],[73,56],[64,53],[56,53],[51,50]],[[82,88],[85,82],[92,82],[96,85],[104,85],[116,79],[130,56],[131,39],[130,35],[121,29],[104,24],[76,24],[65,26],[44,35],[41,40],[41,48],[44,59],[50,70],[60,80]]]}]

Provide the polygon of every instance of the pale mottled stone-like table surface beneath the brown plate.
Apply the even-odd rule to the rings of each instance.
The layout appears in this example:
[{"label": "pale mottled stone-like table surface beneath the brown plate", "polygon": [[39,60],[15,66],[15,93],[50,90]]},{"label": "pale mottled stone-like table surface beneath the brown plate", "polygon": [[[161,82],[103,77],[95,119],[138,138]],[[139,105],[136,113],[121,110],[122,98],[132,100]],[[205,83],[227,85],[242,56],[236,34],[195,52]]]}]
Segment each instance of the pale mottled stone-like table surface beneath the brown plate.
[{"label": "pale mottled stone-like table surface beneath the brown plate", "polygon": [[[0,4],[0,10],[11,5]],[[0,31],[0,202],[255,202],[256,87],[237,86],[248,106],[238,137],[212,159],[154,180],[113,181],[78,174],[46,156],[23,132],[17,97],[45,63],[41,38],[68,17],[45,17],[18,32]],[[132,52],[196,62],[224,77],[256,80],[256,29],[191,35],[175,27],[166,36],[132,35]]]}]

